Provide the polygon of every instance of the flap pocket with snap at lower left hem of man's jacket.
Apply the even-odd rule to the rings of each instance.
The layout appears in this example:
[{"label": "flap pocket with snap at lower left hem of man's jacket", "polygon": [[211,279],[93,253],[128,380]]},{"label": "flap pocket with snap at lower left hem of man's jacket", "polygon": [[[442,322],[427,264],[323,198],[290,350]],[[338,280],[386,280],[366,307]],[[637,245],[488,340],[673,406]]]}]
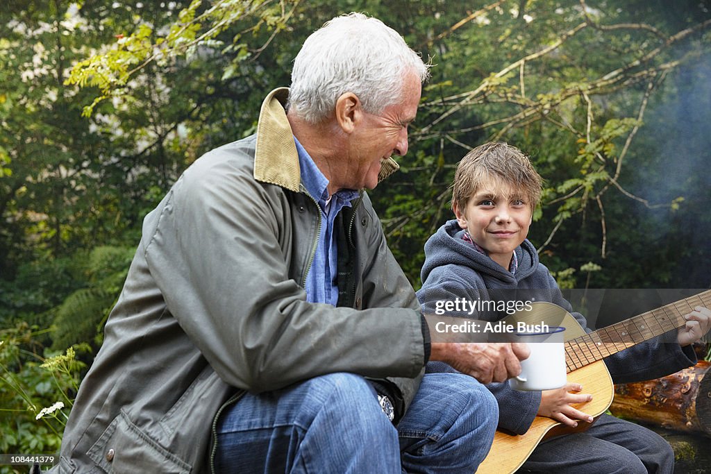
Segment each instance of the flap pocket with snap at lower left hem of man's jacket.
[{"label": "flap pocket with snap at lower left hem of man's jacket", "polygon": [[191,472],[188,463],[156,443],[123,411],[87,451],[87,456],[107,473]]}]

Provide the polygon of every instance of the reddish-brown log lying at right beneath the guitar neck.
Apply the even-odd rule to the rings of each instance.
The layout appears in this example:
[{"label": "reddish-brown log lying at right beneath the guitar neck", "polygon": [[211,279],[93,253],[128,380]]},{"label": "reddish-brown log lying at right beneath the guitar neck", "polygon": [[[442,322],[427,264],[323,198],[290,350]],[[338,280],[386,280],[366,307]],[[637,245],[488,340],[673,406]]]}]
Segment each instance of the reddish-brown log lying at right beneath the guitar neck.
[{"label": "reddish-brown log lying at right beneath the guitar neck", "polygon": [[620,418],[711,437],[711,363],[672,375],[615,385],[610,411]]}]

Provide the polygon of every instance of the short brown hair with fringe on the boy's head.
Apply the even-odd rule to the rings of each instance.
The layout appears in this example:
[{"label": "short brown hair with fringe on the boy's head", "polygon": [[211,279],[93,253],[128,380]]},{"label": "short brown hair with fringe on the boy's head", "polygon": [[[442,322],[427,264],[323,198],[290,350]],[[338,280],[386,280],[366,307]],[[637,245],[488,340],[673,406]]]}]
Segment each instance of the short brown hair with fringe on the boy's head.
[{"label": "short brown hair with fringe on the boy's head", "polygon": [[452,204],[463,210],[469,198],[492,179],[520,191],[531,210],[538,205],[542,179],[530,159],[515,146],[498,142],[479,145],[461,158],[454,173]]}]

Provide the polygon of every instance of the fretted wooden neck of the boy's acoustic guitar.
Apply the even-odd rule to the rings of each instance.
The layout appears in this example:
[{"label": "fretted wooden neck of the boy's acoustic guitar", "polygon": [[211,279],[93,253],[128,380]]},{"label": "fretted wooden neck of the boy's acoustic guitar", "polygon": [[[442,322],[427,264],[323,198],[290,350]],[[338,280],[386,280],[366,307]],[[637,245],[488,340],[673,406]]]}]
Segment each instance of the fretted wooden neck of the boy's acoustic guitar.
[{"label": "fretted wooden neck of the boy's acoustic guitar", "polygon": [[711,307],[711,290],[647,311],[565,343],[567,372],[602,360],[633,345],[685,325],[695,306]]}]

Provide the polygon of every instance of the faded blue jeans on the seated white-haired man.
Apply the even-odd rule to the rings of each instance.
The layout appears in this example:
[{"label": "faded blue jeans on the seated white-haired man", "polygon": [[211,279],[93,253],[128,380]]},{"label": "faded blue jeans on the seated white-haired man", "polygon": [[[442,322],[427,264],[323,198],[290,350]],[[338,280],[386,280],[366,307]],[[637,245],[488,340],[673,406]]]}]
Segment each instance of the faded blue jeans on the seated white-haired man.
[{"label": "faded blue jeans on the seated white-haired man", "polygon": [[498,421],[491,392],[461,374],[427,374],[393,426],[373,387],[348,373],[247,394],[218,420],[218,473],[467,473]]}]

